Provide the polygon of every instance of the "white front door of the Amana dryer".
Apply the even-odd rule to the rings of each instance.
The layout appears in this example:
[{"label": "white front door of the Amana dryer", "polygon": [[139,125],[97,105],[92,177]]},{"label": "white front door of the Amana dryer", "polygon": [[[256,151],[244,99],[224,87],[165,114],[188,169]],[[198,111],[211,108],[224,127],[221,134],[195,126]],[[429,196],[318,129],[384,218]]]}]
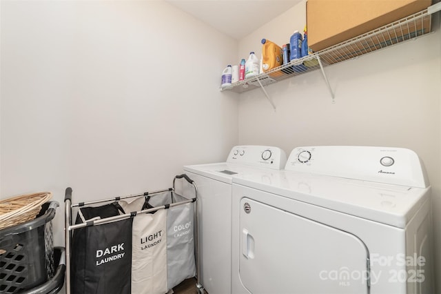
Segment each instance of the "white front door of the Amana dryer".
[{"label": "white front door of the Amana dryer", "polygon": [[369,293],[369,252],[358,237],[246,197],[239,256],[253,294]]}]

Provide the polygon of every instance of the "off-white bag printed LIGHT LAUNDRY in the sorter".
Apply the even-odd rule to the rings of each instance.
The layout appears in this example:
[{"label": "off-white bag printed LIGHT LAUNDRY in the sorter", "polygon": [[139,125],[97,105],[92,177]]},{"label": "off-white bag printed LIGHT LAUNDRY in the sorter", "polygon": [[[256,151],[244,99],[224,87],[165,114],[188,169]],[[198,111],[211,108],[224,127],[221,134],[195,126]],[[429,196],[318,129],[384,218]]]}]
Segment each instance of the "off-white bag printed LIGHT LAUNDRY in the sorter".
[{"label": "off-white bag printed LIGHT LAUNDRY in the sorter", "polygon": [[[140,211],[145,197],[119,204],[125,213]],[[140,213],[132,225],[132,293],[167,293],[167,210]]]}]

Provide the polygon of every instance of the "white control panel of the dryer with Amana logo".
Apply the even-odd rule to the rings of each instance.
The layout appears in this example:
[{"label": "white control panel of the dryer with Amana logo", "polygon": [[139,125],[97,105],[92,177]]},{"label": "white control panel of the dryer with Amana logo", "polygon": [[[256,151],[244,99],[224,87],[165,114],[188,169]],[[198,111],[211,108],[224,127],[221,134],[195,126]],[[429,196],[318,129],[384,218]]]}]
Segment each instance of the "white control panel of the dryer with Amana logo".
[{"label": "white control panel of the dryer with Amana logo", "polygon": [[429,186],[422,161],[405,148],[298,147],[291,151],[285,170],[420,188]]}]

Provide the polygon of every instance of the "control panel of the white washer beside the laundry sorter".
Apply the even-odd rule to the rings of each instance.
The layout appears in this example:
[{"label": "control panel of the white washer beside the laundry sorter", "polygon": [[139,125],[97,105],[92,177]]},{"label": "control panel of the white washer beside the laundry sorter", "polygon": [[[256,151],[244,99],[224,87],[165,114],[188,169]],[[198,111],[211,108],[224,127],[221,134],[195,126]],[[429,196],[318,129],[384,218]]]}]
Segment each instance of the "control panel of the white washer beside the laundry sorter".
[{"label": "control panel of the white washer beside the laundry sorter", "polygon": [[227,158],[227,162],[277,170],[285,168],[286,161],[285,151],[274,146],[234,146]]}]

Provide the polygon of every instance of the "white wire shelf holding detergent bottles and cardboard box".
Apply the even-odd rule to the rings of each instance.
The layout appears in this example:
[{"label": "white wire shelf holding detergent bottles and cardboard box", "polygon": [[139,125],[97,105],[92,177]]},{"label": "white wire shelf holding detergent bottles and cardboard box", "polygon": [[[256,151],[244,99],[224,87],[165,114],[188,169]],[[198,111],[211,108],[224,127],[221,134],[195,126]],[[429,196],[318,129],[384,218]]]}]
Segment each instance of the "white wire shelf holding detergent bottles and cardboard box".
[{"label": "white wire shelf holding detergent bottles and cardboard box", "polygon": [[[403,41],[415,39],[431,32],[430,8],[412,14],[376,30],[371,30],[363,35],[354,37],[335,46],[314,52],[312,55],[294,59],[290,63],[278,66],[256,77],[238,81],[231,86],[220,88],[221,91],[247,92],[255,88],[263,88],[277,81],[302,75],[306,72],[322,69],[334,63],[345,61],[365,55],[367,53],[384,49]],[[321,62],[320,62],[321,61]],[[322,71],[324,74],[324,72]]]}]

